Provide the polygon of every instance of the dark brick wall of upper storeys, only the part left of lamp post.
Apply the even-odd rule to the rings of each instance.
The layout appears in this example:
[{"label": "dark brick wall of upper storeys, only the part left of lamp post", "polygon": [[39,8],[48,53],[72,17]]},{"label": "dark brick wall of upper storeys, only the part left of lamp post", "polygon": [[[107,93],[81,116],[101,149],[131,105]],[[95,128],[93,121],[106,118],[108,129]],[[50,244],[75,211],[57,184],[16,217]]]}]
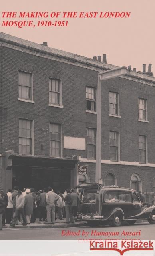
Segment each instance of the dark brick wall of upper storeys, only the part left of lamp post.
[{"label": "dark brick wall of upper storeys, only the part left of lamp post", "polygon": [[[34,154],[49,156],[49,122],[60,123],[64,136],[86,137],[86,124],[95,126],[96,115],[85,112],[85,86],[97,86],[96,72],[71,64],[52,61],[38,56],[2,48],[2,106],[6,108],[2,124],[2,149],[18,153],[18,119],[34,120]],[[25,65],[24,65],[25,64]],[[35,104],[18,101],[18,70],[33,73]],[[48,78],[62,80],[62,105],[48,106]],[[43,150],[40,148],[43,144]],[[64,156],[79,154],[77,150],[64,149]],[[85,152],[80,152],[86,157]]]}]

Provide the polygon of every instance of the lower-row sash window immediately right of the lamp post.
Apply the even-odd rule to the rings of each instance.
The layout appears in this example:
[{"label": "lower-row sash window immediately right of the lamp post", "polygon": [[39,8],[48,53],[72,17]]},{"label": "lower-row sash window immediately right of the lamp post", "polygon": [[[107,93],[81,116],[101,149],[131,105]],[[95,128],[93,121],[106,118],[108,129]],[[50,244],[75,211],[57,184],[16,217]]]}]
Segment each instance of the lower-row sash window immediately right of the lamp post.
[{"label": "lower-row sash window immediately right of the lamp post", "polygon": [[119,132],[110,132],[110,161],[119,160]]}]

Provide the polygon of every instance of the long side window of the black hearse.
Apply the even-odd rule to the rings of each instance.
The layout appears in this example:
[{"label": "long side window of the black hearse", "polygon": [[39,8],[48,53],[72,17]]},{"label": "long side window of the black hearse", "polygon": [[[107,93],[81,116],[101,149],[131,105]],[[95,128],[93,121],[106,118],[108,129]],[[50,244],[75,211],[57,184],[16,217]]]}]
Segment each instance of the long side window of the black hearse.
[{"label": "long side window of the black hearse", "polygon": [[104,201],[105,203],[131,203],[131,193],[125,191],[107,191]]}]

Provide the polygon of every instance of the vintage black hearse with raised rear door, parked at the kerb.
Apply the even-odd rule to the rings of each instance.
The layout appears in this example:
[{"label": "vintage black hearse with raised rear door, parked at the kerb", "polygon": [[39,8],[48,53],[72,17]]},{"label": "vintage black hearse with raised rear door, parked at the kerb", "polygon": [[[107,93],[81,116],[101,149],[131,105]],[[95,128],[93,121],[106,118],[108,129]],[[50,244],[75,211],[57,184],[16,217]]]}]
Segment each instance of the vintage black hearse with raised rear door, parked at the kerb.
[{"label": "vintage black hearse with raised rear door, parked at the kerb", "polygon": [[120,226],[123,220],[134,224],[148,220],[155,224],[155,206],[145,207],[137,194],[118,186],[102,187],[98,183],[79,184],[77,220],[86,220],[90,226],[111,221]]}]

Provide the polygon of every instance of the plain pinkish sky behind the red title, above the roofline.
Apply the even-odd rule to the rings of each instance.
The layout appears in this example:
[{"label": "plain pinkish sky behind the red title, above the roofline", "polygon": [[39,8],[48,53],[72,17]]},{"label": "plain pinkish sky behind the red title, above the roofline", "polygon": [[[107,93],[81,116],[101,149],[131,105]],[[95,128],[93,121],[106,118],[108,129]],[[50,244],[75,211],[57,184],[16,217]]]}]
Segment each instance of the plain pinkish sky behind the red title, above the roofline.
[{"label": "plain pinkish sky behind the red title, above the roofline", "polygon": [[131,16],[130,18],[69,18],[68,27],[1,26],[0,32],[36,43],[48,42],[49,47],[89,58],[107,54],[107,63],[116,66],[131,65],[132,69],[137,68],[137,71],[142,71],[142,64],[152,63],[153,72],[155,69],[154,10],[154,0],[44,0],[41,2],[8,0],[2,1],[0,12],[124,11],[131,12]]}]

